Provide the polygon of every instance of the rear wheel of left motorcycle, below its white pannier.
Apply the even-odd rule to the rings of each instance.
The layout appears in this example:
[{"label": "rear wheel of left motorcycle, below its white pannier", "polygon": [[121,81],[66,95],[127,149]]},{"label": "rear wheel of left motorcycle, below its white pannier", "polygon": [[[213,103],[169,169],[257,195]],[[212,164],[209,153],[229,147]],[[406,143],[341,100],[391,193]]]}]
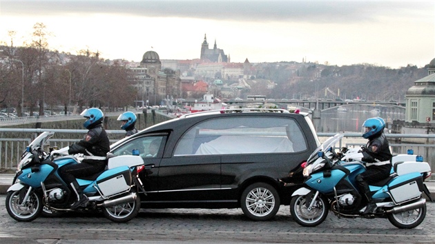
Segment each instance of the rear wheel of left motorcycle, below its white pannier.
[{"label": "rear wheel of left motorcycle, below its white pannier", "polygon": [[116,223],[125,223],[131,221],[140,210],[140,196],[136,196],[136,200],[131,203],[122,203],[113,207],[103,207],[103,214],[110,221]]}]

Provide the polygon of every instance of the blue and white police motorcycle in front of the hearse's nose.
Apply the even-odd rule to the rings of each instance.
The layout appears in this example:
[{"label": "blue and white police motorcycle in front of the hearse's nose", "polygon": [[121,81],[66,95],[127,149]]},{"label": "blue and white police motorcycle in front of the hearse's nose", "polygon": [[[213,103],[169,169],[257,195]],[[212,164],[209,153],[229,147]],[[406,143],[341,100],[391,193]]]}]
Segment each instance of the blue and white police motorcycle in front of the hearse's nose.
[{"label": "blue and white police motorcycle in front of the hearse's nose", "polygon": [[13,185],[9,187],[6,196],[6,210],[12,218],[17,221],[33,221],[43,210],[55,213],[53,215],[101,211],[106,218],[118,223],[130,221],[137,216],[140,210],[137,193],[145,193],[137,176],[144,169],[144,161],[140,156],[109,156],[104,172],[86,179],[77,179],[89,201],[72,210],[70,204],[77,196],[70,192],[58,170],[64,165],[80,161],[76,156],[50,155],[44,151],[43,146],[53,134],[55,133],[43,132],[37,136],[21,156]]}]

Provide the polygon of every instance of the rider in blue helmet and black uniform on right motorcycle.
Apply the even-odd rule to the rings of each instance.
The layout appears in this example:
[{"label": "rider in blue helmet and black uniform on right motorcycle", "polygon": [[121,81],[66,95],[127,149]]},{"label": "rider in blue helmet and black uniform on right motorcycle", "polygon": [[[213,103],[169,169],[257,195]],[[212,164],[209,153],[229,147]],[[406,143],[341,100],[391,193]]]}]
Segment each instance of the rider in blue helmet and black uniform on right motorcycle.
[{"label": "rider in blue helmet and black uniform on right motorcycle", "polygon": [[385,121],[376,117],[367,119],[363,123],[363,137],[369,139],[365,148],[362,149],[366,171],[356,176],[356,182],[367,197],[367,207],[363,214],[370,214],[376,209],[376,203],[371,198],[370,183],[376,183],[387,178],[392,169],[392,153],[384,134]]}]

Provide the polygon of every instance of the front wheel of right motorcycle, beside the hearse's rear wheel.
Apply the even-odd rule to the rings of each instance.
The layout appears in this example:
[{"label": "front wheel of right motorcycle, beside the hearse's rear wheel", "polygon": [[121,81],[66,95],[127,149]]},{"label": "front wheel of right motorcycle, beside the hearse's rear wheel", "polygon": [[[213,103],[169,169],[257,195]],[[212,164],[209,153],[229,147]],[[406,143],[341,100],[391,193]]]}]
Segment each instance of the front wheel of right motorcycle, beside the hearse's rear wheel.
[{"label": "front wheel of right motorcycle, beside the hearse's rear wheel", "polygon": [[318,196],[310,210],[305,204],[306,201],[311,203],[311,199],[307,200],[307,196],[293,196],[290,203],[291,217],[296,223],[305,227],[320,225],[328,216],[328,200],[325,196]]}]

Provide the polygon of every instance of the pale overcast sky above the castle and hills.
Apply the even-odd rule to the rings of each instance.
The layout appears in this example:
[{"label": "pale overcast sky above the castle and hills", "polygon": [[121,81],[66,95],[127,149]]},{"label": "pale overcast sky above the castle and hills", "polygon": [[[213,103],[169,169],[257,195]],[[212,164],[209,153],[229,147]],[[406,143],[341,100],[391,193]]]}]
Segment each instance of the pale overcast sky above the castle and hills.
[{"label": "pale overcast sky above the castle and hills", "polygon": [[423,67],[435,58],[435,1],[10,1],[0,0],[0,41],[30,40],[35,23],[50,49],[105,59],[198,59],[209,48],[232,62],[317,61]]}]

